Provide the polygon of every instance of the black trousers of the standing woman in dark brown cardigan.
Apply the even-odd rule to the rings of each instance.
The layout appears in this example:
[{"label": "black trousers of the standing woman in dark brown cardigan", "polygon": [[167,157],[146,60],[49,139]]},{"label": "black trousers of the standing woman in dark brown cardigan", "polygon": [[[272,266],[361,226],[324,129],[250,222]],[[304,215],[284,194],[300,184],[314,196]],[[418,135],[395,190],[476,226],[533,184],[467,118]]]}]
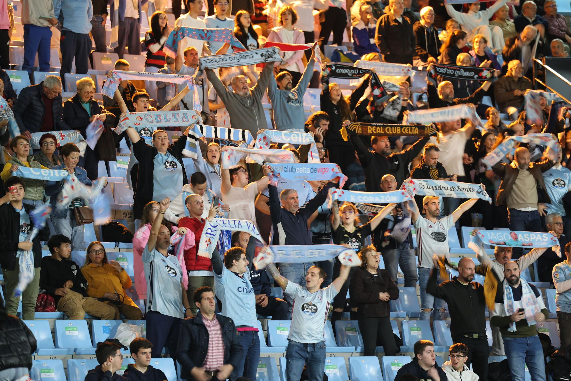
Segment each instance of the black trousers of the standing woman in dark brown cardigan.
[{"label": "black trousers of the standing woman in dark brown cardigan", "polygon": [[359,330],[363,336],[365,356],[375,356],[376,346],[381,345],[385,356],[396,355],[395,335],[389,318],[359,318]]}]

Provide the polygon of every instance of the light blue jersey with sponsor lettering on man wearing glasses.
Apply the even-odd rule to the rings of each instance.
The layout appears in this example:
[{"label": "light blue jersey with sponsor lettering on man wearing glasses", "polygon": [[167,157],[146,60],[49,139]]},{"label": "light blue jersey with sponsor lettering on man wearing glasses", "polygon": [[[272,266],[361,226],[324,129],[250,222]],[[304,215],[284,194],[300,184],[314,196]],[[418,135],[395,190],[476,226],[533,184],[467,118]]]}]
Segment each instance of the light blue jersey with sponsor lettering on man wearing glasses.
[{"label": "light blue jersey with sponsor lettering on man wearing glasses", "polygon": [[222,301],[222,315],[234,320],[236,327],[258,327],[254,287],[250,283],[250,271],[242,276],[222,266],[222,275],[214,273],[214,292]]}]

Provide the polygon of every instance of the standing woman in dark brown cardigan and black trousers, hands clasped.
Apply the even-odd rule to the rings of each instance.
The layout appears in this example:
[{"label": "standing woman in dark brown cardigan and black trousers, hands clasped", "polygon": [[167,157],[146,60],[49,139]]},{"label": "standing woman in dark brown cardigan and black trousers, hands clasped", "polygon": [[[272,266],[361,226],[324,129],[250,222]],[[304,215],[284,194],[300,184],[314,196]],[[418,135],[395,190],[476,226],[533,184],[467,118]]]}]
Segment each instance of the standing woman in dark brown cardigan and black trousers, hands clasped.
[{"label": "standing woman in dark brown cardigan and black trousers, hands clasped", "polygon": [[359,251],[361,266],[351,281],[351,301],[357,305],[359,330],[363,335],[365,356],[375,356],[382,346],[385,356],[396,355],[395,336],[391,327],[389,300],[399,299],[399,288],[389,272],[379,268],[379,253],[373,245]]}]

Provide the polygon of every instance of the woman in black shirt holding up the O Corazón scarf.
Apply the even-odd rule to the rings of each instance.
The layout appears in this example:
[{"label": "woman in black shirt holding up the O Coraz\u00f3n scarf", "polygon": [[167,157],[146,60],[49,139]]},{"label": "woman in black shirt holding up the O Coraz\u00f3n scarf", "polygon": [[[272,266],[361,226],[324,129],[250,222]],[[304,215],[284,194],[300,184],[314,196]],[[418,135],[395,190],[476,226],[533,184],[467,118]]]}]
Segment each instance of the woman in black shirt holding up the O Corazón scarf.
[{"label": "woman in black shirt holding up the O Coraz\u00f3n scarf", "polygon": [[[371,221],[366,224],[359,226],[359,217],[357,217],[357,208],[352,203],[344,203],[339,207],[339,203],[335,201],[333,203],[333,213],[331,215],[331,228],[333,232],[331,237],[333,239],[333,244],[343,245],[347,248],[351,248],[356,252],[359,252],[365,245],[365,239],[371,235],[371,232],[375,230],[380,222],[387,216],[393,209],[395,209],[396,204],[388,204],[381,211],[373,217]],[[339,276],[339,271],[341,270],[341,262],[339,259],[335,259],[333,264],[333,279]],[[351,284],[351,278],[355,273],[355,268],[351,268],[349,272],[349,277],[343,284],[343,287],[333,299],[333,313],[331,315],[331,324],[333,326],[333,331],[335,331],[335,322],[341,320],[343,315],[343,309],[345,308],[345,299],[347,297],[347,290],[349,289],[349,284]],[[355,313],[357,311],[354,301],[351,301],[351,320],[357,320],[355,318]]]}]

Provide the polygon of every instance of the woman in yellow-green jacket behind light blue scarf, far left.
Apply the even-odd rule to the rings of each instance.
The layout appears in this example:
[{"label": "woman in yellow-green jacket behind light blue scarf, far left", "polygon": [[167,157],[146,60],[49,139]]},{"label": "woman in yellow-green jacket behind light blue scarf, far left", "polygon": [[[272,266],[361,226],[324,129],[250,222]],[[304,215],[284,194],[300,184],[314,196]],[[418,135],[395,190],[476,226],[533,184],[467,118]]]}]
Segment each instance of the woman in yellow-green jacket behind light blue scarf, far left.
[{"label": "woman in yellow-green jacket behind light blue scarf, far left", "polygon": [[[48,169],[41,165],[37,160],[34,160],[34,156],[29,156],[30,154],[30,140],[19,135],[10,141],[10,149],[14,152],[12,158],[6,162],[4,165],[4,170],[0,174],[3,181],[8,180],[11,176],[15,176],[14,172],[18,170],[20,166],[27,166],[28,168],[43,168]],[[46,181],[34,180],[33,178],[22,177],[24,184],[26,185],[26,193],[22,203],[37,206],[43,204],[43,192],[46,186]]]}]

